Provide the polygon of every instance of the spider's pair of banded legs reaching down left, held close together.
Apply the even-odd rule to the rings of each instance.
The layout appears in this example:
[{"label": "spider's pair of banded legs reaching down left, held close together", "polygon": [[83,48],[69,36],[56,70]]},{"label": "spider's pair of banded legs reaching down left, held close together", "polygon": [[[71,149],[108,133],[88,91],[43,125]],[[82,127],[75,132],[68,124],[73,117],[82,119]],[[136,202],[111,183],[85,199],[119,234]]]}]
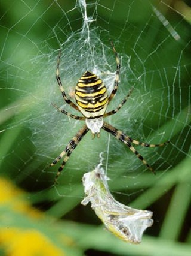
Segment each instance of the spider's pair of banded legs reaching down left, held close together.
[{"label": "spider's pair of banded legs reaching down left, held close together", "polygon": [[63,170],[63,168],[64,168],[67,160],[69,159],[72,151],[76,148],[79,141],[81,141],[81,139],[84,137],[85,134],[87,134],[88,131],[89,131],[89,129],[88,129],[87,125],[84,125],[84,127],[82,127],[78,131],[78,133],[72,138],[72,140],[70,140],[70,142],[67,144],[64,151],[61,152],[60,155],[58,155],[57,158],[54,159],[54,161],[50,164],[50,166],[53,166],[53,165],[57,164],[57,162],[60,161],[60,159],[63,158],[64,155],[66,155],[64,157],[64,160],[63,160],[60,168],[58,169],[58,172],[57,172],[56,177],[55,177],[55,182],[57,180],[57,177],[60,175],[61,171]]}]

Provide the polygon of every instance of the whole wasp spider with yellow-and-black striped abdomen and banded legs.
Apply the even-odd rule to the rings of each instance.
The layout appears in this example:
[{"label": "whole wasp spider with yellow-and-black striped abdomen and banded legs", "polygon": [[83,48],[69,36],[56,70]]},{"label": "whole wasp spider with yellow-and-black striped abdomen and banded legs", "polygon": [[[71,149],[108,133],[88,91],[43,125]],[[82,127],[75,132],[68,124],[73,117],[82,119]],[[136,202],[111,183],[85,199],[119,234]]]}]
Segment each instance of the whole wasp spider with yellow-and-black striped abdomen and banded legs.
[{"label": "whole wasp spider with yellow-and-black striped abdomen and banded legs", "polygon": [[131,88],[127,96],[124,98],[124,100],[121,101],[119,106],[116,109],[106,113],[108,104],[113,99],[113,97],[115,97],[116,91],[118,90],[119,71],[120,71],[120,62],[119,62],[118,53],[116,52],[112,42],[111,44],[112,44],[112,49],[115,54],[116,64],[117,64],[113,91],[111,92],[110,95],[108,95],[106,86],[104,86],[104,83],[100,79],[100,77],[98,77],[96,74],[90,71],[85,71],[85,73],[82,74],[82,77],[78,80],[78,83],[75,88],[76,104],[73,103],[67,97],[66,92],[64,91],[63,85],[61,83],[60,72],[59,72],[61,50],[59,52],[58,59],[57,59],[56,79],[57,79],[61,94],[64,100],[66,101],[66,103],[69,104],[74,109],[81,112],[83,116],[73,115],[72,113],[69,113],[64,109],[57,107],[56,104],[53,104],[53,106],[56,107],[61,113],[64,113],[70,118],[74,118],[77,120],[84,120],[85,125],[78,131],[78,133],[72,138],[72,140],[69,141],[69,143],[67,144],[63,152],[61,152],[60,155],[58,155],[57,158],[54,159],[54,161],[50,164],[50,166],[57,164],[57,162],[60,161],[60,159],[63,158],[64,156],[63,162],[57,171],[55,181],[57,180],[57,177],[60,175],[64,166],[66,165],[66,162],[69,159],[71,153],[76,148],[79,141],[81,141],[81,139],[85,136],[85,134],[87,134],[89,130],[91,130],[93,137],[95,137],[95,135],[97,135],[97,137],[100,137],[101,128],[109,132],[113,136],[115,136],[118,140],[122,141],[122,143],[124,143],[138,157],[138,159],[140,159],[143,162],[143,164],[146,165],[147,168],[149,168],[150,171],[153,171],[152,167],[150,167],[150,165],[147,164],[146,160],[144,160],[143,156],[141,156],[137,152],[137,150],[132,146],[132,144],[140,145],[144,147],[160,147],[168,143],[167,141],[161,144],[148,144],[148,143],[134,140],[133,138],[124,134],[124,132],[119,131],[118,129],[112,127],[112,125],[107,124],[106,122],[103,121],[103,118],[105,118],[106,116],[110,116],[118,112],[119,109],[121,109],[121,107],[130,97],[131,92],[133,91],[133,88]]}]

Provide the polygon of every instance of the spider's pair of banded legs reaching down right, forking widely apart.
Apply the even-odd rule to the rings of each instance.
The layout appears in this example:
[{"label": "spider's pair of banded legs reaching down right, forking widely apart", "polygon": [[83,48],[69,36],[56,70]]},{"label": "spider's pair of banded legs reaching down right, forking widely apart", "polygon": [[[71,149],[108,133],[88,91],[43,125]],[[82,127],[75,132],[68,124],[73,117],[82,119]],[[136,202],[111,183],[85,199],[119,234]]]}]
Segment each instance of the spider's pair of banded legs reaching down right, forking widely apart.
[{"label": "spider's pair of banded legs reaching down right, forking widely apart", "polygon": [[[145,146],[145,147],[158,147],[158,146],[163,146],[166,143],[162,143],[162,144],[147,144],[147,143],[143,143],[143,142],[139,142],[137,140],[133,140],[132,138],[128,137],[127,135],[124,134],[124,132],[119,131],[118,129],[112,127],[112,125],[107,124],[106,122],[103,123],[103,127],[102,127],[105,131],[109,132],[110,134],[112,134],[113,136],[115,136],[118,140],[122,141],[122,143],[124,143],[126,146],[129,147],[129,149],[138,157],[138,159],[140,159],[144,165],[146,165],[146,167],[152,171],[153,173],[155,173],[155,171],[153,171],[153,168],[147,164],[146,160],[144,160],[143,156],[140,155],[140,153],[138,153],[138,151],[132,146],[131,143],[137,144],[137,145],[141,145],[141,146]],[[168,143],[169,141],[167,141]]]}]

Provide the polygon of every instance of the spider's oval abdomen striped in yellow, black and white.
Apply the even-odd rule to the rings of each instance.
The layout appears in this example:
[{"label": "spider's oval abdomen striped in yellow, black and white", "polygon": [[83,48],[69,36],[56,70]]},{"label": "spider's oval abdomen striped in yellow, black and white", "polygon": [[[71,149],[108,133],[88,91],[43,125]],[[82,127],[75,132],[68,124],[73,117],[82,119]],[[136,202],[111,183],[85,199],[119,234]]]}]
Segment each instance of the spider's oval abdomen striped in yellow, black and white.
[{"label": "spider's oval abdomen striped in yellow, black and white", "polygon": [[103,81],[89,71],[78,80],[75,90],[76,103],[86,118],[98,118],[106,112],[108,95]]}]

